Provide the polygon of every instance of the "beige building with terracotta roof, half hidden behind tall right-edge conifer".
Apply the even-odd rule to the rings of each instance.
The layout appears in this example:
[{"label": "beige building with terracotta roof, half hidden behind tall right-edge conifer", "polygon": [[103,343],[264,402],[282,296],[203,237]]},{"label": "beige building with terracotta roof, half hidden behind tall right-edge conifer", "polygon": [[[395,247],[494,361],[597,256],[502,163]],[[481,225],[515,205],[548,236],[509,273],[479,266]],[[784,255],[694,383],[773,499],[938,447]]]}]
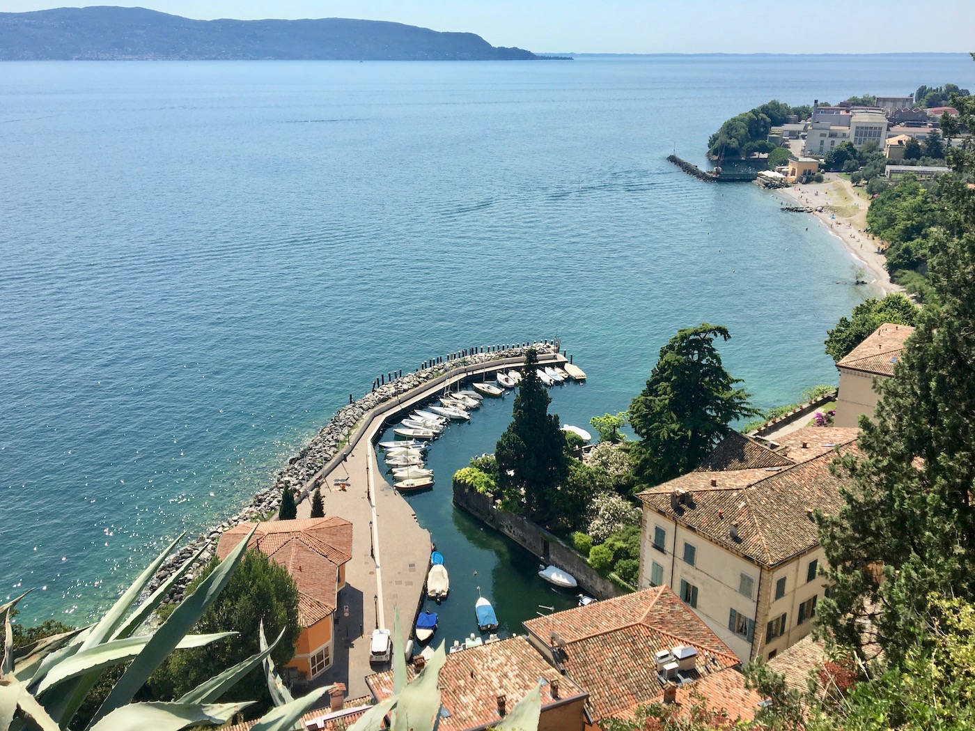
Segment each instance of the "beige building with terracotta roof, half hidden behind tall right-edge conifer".
[{"label": "beige building with terracotta roof, half hidden behind tall right-edge conifer", "polygon": [[894,363],[914,330],[909,325],[885,322],[839,360],[836,426],[856,426],[861,414],[874,415],[879,398],[874,379],[894,375]]}]

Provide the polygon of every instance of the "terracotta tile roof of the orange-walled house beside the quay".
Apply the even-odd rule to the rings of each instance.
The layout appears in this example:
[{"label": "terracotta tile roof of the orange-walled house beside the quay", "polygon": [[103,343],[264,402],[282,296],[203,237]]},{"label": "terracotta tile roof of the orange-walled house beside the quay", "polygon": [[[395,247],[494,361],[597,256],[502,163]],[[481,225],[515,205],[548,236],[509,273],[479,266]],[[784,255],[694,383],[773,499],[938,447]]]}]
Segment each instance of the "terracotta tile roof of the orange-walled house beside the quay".
[{"label": "terracotta tile roof of the orange-walled house beside the quay", "polygon": [[[249,549],[257,548],[288,569],[298,588],[298,619],[311,627],[335,611],[338,567],[352,558],[352,523],[324,518],[271,520],[257,523]],[[239,523],[224,531],[216,547],[223,560],[254,527]]]}]

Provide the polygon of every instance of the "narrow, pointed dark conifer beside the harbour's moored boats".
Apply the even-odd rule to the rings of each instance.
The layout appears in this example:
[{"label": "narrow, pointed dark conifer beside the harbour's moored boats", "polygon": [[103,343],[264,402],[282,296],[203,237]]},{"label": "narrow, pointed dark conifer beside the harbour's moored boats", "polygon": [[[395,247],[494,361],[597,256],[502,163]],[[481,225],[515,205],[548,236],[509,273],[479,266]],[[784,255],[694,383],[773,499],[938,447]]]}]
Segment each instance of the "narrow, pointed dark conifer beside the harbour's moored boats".
[{"label": "narrow, pointed dark conifer beside the harbour's moored boats", "polygon": [[552,401],[535,370],[538,356],[531,348],[525,358],[525,375],[515,396],[512,422],[494,448],[498,487],[511,504],[524,495],[525,514],[548,523],[558,511],[558,487],[565,482],[568,457],[559,415],[549,414]]}]

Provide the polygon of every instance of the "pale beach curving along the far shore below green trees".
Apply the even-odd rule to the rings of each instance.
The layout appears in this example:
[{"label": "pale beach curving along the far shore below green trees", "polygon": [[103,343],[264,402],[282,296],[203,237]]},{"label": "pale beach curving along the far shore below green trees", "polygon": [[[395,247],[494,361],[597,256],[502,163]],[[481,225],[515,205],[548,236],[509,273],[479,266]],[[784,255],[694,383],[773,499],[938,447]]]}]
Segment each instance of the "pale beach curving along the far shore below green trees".
[{"label": "pale beach curving along the far shore below green trees", "polygon": [[788,201],[788,205],[823,206],[822,213],[812,215],[839,237],[856,263],[863,266],[864,279],[885,294],[903,292],[903,287],[890,281],[883,254],[879,253],[886,244],[876,236],[864,233],[870,205],[867,198],[854,190],[849,181],[833,173],[825,175],[823,183],[803,183],[779,188],[776,192]]}]

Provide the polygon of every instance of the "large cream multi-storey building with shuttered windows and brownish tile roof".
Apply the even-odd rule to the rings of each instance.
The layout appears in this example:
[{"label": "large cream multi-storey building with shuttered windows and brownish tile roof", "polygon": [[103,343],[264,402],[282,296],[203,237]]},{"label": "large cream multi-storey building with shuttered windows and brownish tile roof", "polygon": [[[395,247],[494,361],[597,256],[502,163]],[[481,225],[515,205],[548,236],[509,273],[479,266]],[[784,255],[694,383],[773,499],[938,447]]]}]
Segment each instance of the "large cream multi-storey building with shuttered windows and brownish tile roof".
[{"label": "large cream multi-storey building with shuttered windows and brownish tile roof", "polygon": [[805,426],[761,443],[732,431],[701,467],[640,493],[640,587],[677,591],[742,660],[798,642],[827,586],[814,511],[842,507],[830,464],[857,432]]}]

